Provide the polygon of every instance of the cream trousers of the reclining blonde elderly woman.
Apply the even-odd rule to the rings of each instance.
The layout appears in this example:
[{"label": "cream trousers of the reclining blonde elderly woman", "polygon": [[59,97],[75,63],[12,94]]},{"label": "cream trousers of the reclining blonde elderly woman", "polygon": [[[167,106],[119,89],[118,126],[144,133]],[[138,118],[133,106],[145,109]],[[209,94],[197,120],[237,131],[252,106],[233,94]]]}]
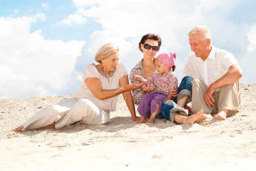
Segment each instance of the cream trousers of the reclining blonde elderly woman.
[{"label": "cream trousers of the reclining blonde elderly woman", "polygon": [[22,131],[46,127],[54,122],[57,129],[75,122],[97,125],[110,122],[110,115],[109,111],[100,109],[88,99],[70,98],[37,112],[23,124]]}]

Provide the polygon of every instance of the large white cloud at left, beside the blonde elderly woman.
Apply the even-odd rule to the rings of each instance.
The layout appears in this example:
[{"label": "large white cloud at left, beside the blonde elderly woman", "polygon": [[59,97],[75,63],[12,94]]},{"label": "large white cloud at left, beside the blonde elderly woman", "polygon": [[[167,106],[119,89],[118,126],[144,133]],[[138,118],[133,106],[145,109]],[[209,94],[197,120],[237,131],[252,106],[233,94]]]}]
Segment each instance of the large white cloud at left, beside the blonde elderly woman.
[{"label": "large white cloud at left, beside the blonde elderly woman", "polygon": [[39,18],[44,19],[0,18],[0,98],[54,95],[73,80],[85,42],[45,40],[41,30],[30,33],[31,23]]}]

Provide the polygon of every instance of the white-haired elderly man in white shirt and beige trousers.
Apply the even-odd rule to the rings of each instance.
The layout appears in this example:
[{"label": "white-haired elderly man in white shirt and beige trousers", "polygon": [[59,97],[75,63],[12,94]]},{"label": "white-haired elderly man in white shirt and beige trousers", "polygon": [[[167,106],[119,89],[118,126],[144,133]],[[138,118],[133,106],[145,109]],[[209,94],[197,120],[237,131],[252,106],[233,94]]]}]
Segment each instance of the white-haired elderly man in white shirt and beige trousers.
[{"label": "white-haired elderly man in white shirt and beige trousers", "polygon": [[242,70],[230,52],[212,46],[208,27],[193,27],[188,36],[195,54],[188,58],[182,78],[191,76],[194,79],[192,111],[203,109],[205,117],[215,114],[215,119],[226,120],[239,111]]}]

